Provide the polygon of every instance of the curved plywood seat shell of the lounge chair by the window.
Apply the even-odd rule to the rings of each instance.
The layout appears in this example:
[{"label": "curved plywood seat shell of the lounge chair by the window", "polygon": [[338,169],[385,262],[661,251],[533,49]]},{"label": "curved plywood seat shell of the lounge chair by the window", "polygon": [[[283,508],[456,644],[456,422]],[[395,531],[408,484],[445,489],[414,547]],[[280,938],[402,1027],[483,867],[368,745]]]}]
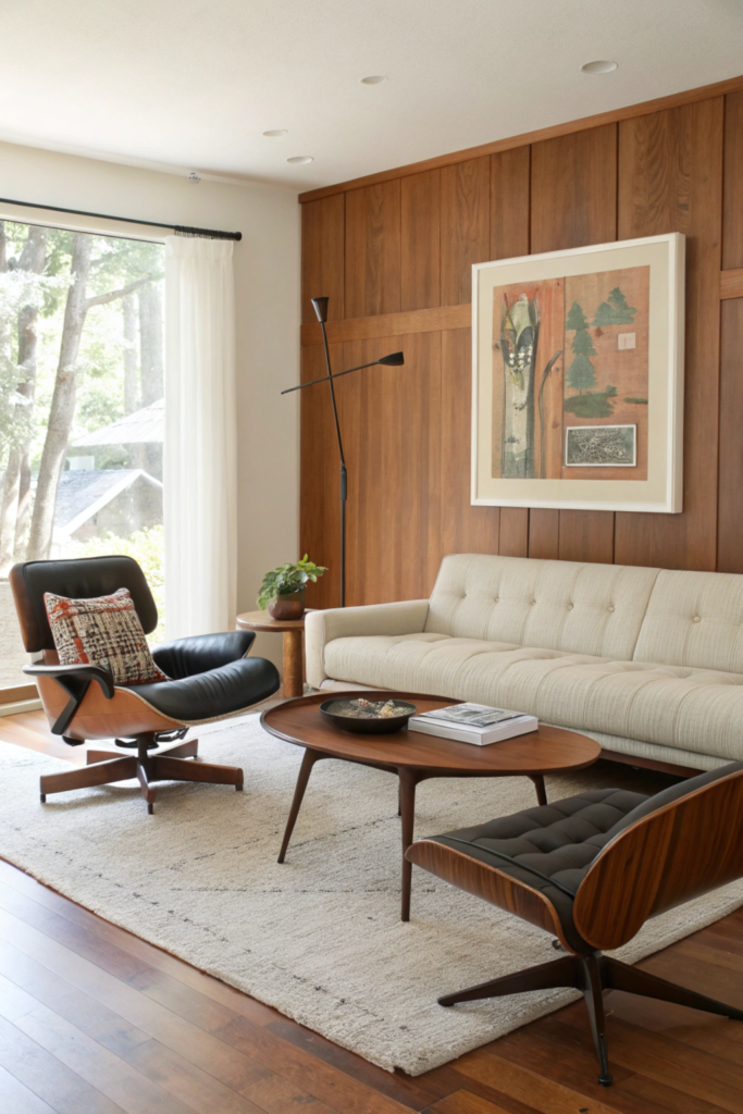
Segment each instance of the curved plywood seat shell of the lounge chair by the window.
[{"label": "curved plywood seat shell of the lounge chair by the window", "polygon": [[[69,696],[52,677],[36,677],[36,683],[49,723],[53,724],[61,715]],[[65,734],[81,740],[113,739],[115,735],[170,731],[182,725],[178,720],[155,711],[128,688],[116,688],[113,700],[107,700],[94,682]]]}]

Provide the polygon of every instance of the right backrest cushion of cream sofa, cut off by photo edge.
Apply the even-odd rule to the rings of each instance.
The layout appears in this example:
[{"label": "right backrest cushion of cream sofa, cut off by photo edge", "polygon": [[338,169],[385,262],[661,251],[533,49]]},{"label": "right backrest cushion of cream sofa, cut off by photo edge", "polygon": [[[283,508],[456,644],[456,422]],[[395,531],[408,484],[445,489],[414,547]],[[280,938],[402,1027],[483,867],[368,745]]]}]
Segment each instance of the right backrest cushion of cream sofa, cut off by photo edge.
[{"label": "right backrest cushion of cream sofa, cut off by photo edge", "polygon": [[743,673],[743,576],[663,569],[633,657]]}]

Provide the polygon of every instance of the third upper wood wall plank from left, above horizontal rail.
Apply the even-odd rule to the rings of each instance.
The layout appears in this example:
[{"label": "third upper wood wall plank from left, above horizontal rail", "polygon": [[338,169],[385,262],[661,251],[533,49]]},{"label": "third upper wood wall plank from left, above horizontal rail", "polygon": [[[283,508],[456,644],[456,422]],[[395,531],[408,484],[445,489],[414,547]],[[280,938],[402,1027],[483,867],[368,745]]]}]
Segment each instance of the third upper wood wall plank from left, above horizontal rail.
[{"label": "third upper wood wall plank from left, above horizontal rail", "polygon": [[411,174],[400,183],[402,228],[401,310],[440,305],[441,174]]}]

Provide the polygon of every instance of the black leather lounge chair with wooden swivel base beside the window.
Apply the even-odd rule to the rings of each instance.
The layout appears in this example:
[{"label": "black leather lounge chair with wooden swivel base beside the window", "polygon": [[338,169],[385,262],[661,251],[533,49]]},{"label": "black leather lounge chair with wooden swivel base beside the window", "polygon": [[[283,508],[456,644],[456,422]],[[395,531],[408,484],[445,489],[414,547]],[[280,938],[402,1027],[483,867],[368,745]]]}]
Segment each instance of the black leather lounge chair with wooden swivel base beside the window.
[{"label": "black leather lounge chair with wooden swivel base beside the window", "polygon": [[[137,778],[153,812],[156,781],[198,781],[243,788],[238,766],[188,762],[198,741],[182,742],[189,727],[243,712],[271,696],[280,680],[272,662],[247,657],[255,635],[248,631],[179,638],[159,646],[155,662],[172,680],[141,685],[115,685],[99,665],[60,665],[43,604],[45,592],[74,599],[111,595],[128,588],[145,634],[157,626],[157,607],[145,575],[130,557],[27,561],[10,571],[23,645],[43,652],[42,665],[23,672],[36,678],[52,734],[70,746],[90,739],[116,737],[137,754],[88,751],[81,770],[41,778],[41,800],[48,793],[104,785]],[[92,683],[91,683],[92,682]],[[178,741],[158,754],[162,742]]]}]

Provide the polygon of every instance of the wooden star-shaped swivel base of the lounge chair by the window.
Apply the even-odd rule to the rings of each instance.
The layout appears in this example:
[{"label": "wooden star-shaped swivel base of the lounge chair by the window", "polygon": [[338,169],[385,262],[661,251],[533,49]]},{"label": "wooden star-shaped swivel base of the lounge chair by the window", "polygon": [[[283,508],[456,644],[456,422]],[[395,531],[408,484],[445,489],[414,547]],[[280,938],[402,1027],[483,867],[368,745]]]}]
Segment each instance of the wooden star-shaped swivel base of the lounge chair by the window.
[{"label": "wooden star-shaped swivel base of the lounge chair by the window", "polygon": [[41,802],[49,793],[66,793],[70,789],[90,789],[117,781],[138,779],[141,795],[147,801],[147,812],[154,812],[155,781],[197,781],[212,785],[234,785],[243,789],[239,766],[214,765],[209,762],[188,762],[198,753],[198,740],[189,739],[157,754],[149,751],[157,746],[155,732],[137,735],[137,754],[115,754],[113,751],[88,751],[88,765],[67,773],[45,774],[39,779]]}]

